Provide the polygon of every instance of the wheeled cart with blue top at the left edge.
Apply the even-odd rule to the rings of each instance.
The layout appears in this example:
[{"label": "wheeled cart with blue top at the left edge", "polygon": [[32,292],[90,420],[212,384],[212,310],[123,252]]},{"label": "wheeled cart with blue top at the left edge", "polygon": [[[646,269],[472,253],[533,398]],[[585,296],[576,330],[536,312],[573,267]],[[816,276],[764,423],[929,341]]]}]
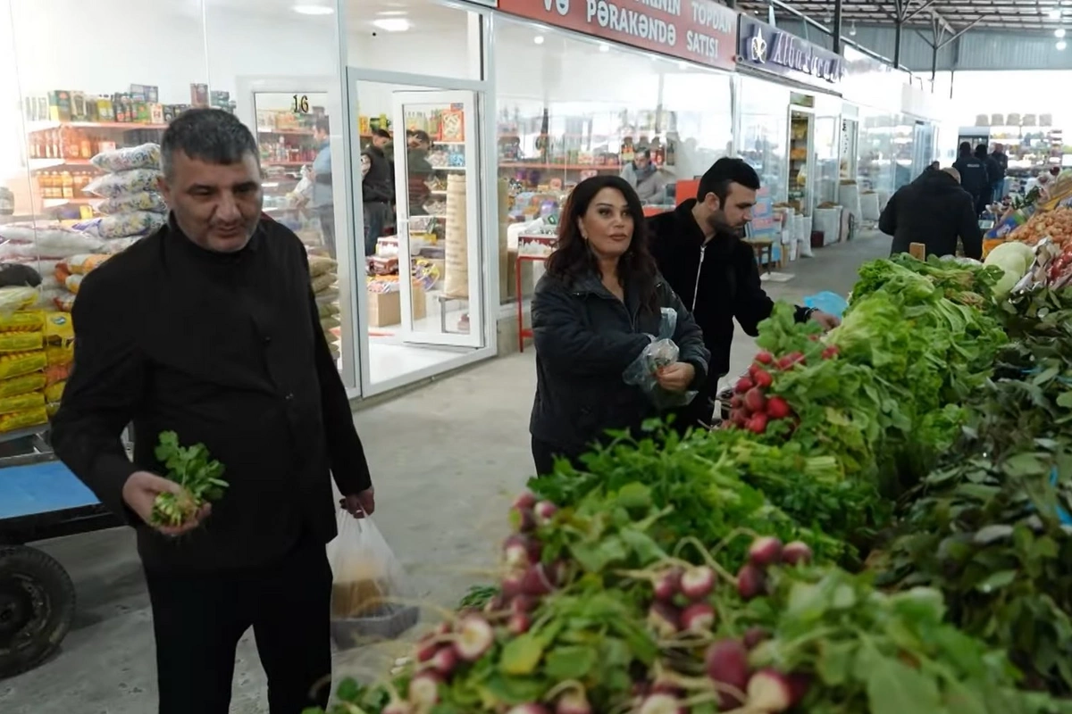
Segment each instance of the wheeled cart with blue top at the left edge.
[{"label": "wheeled cart with blue top at the left edge", "polygon": [[120,525],[56,460],[47,431],[41,426],[0,439],[0,679],[47,659],[74,619],[66,571],[26,544]]}]

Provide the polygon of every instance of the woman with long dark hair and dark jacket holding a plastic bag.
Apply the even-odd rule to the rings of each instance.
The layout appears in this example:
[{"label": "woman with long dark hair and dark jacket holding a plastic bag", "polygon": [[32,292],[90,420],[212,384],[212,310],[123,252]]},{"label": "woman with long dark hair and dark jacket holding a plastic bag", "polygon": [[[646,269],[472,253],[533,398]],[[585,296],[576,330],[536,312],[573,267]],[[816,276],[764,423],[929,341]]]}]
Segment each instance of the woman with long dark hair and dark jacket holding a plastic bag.
[{"label": "woman with long dark hair and dark jacket holding a plastic bag", "polygon": [[533,299],[536,399],[530,430],[539,474],[555,457],[576,462],[608,429],[637,432],[657,415],[626,384],[625,369],[659,334],[661,309],[676,313],[679,362],[660,369],[671,393],[696,389],[710,354],[700,329],[659,275],[643,234],[637,192],[616,176],[582,181],[562,211],[559,245]]}]

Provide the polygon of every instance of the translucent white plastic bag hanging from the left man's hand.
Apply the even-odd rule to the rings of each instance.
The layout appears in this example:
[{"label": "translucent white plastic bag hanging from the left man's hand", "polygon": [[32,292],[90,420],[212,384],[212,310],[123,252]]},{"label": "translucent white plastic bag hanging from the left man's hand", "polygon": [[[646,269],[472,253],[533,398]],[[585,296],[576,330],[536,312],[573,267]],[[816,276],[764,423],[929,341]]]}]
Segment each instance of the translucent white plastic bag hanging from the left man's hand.
[{"label": "translucent white plastic bag hanging from the left man's hand", "polygon": [[331,563],[331,635],[346,649],[370,638],[393,638],[416,624],[403,605],[402,566],[369,517],[339,512],[339,535],[328,544]]}]

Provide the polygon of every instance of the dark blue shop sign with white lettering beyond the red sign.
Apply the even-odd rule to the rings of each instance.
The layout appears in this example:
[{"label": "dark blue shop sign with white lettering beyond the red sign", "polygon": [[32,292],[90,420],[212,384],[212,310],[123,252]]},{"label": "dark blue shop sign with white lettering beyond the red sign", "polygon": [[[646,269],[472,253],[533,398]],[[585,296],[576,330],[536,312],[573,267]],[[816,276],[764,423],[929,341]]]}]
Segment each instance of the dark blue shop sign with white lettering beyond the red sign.
[{"label": "dark blue shop sign with white lettering beyond the red sign", "polygon": [[820,87],[845,76],[845,58],[796,35],[741,15],[738,62],[756,70]]}]

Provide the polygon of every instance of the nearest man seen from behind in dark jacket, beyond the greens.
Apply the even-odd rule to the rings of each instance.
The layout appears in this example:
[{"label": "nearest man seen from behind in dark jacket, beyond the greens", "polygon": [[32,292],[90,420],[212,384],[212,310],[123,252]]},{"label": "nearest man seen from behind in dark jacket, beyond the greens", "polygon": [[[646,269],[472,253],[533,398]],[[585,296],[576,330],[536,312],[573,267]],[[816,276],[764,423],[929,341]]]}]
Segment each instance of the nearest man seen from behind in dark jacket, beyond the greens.
[{"label": "nearest man seen from behind in dark jacket, beyond the greens", "polygon": [[893,236],[891,254],[908,253],[911,243],[923,243],[927,255],[951,256],[959,236],[965,256],[978,259],[983,255],[974,199],[961,186],[956,169],[928,171],[897,189],[882,210],[878,227]]}]

